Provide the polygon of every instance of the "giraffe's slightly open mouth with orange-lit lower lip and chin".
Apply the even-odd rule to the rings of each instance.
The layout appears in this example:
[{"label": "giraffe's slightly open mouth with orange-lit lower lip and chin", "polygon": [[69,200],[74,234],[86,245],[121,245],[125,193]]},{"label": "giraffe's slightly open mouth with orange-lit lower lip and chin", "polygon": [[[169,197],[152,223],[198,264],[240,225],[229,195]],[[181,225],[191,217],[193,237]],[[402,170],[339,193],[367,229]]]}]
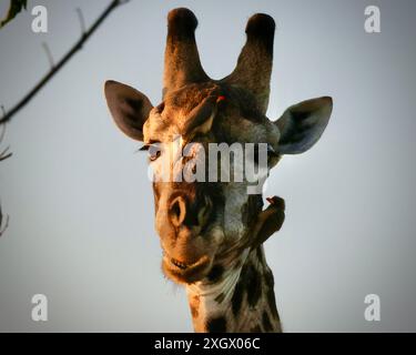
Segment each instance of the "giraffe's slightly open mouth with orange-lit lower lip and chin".
[{"label": "giraffe's slightly open mouth with orange-lit lower lip and chin", "polygon": [[162,268],[165,275],[179,283],[193,283],[203,278],[211,267],[211,258],[201,256],[193,263],[181,262],[166,253],[163,255]]}]

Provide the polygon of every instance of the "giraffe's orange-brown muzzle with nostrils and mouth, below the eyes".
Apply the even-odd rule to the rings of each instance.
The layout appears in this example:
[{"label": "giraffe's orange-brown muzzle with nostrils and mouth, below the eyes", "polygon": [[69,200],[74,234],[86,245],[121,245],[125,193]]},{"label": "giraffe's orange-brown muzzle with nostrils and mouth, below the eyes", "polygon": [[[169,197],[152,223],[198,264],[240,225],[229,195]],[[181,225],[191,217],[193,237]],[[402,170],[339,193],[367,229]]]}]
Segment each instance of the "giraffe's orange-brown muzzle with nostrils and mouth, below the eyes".
[{"label": "giraffe's orange-brown muzzle with nostrils and mouth, below the eyes", "polygon": [[220,241],[222,200],[202,183],[155,183],[155,226],[163,250],[162,270],[177,283],[203,278]]}]

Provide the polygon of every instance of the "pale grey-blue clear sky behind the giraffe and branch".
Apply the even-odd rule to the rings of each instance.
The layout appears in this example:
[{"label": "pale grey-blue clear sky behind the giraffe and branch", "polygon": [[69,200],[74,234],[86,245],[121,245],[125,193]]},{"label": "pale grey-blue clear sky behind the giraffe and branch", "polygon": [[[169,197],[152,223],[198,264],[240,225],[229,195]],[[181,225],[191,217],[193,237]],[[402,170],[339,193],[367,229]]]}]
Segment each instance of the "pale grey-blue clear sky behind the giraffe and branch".
[{"label": "pale grey-blue clear sky behind the giraffe and branch", "polygon": [[[91,23],[108,1],[44,4],[49,33],[30,11],[0,30],[0,103],[11,108],[78,40],[74,9]],[[364,31],[379,6],[382,33]],[[277,23],[267,114],[334,98],[322,140],[285,156],[266,195],[286,200],[282,231],[266,244],[286,332],[416,331],[415,1],[141,1],[116,9],[65,68],[8,125],[0,197],[0,331],[192,331],[185,294],[160,270],[153,197],[139,144],[113,124],[103,83],[114,79],[161,100],[166,14],[199,18],[203,67],[229,74],[255,12]],[[8,1],[0,1],[6,13]],[[33,322],[33,294],[49,321]],[[364,297],[381,297],[381,322]]]}]

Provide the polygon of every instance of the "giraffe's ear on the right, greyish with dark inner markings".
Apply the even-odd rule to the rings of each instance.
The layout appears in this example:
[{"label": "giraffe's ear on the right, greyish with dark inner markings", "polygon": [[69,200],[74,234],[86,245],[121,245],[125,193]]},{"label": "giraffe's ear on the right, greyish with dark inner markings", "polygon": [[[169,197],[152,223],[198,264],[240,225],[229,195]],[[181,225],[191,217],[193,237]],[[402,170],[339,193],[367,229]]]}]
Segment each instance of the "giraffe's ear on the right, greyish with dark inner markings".
[{"label": "giraffe's ear on the right, greyish with dark inner markings", "polygon": [[329,121],[332,98],[323,97],[290,106],[275,122],[281,136],[281,154],[298,154],[307,151],[321,138]]}]

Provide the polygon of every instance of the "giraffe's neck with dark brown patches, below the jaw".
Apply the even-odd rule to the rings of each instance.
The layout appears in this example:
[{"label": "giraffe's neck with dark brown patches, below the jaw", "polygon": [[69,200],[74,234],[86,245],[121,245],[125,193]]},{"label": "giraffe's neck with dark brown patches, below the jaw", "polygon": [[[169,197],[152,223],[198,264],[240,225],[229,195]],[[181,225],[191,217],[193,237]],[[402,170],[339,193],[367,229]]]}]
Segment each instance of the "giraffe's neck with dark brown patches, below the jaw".
[{"label": "giraffe's neck with dark brown patches, below the jaw", "polygon": [[281,332],[273,286],[263,245],[245,250],[211,280],[186,286],[195,332]]}]

